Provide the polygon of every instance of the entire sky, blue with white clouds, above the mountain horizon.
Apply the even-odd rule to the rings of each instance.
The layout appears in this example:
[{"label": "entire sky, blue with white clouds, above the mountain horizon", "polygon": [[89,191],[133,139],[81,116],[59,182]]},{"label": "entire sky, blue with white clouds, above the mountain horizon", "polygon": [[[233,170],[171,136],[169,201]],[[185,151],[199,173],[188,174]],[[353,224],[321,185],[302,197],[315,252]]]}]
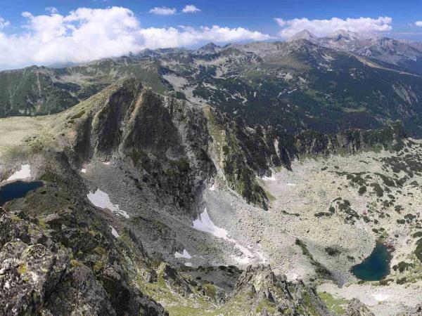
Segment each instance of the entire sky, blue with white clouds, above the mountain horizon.
[{"label": "entire sky, blue with white clouds, above the mountain horizon", "polygon": [[304,28],[318,36],[349,29],[422,41],[421,5],[422,0],[0,0],[0,70],[209,41],[284,40]]}]

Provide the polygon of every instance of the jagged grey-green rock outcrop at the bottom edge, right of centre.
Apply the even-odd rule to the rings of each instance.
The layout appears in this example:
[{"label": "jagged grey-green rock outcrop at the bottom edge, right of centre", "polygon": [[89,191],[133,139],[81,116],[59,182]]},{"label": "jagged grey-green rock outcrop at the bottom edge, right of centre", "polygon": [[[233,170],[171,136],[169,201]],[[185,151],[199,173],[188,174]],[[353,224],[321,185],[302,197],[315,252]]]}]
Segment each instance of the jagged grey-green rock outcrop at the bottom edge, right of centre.
[{"label": "jagged grey-green rock outcrop at the bottom edge, right of centre", "polygon": [[244,315],[329,315],[314,290],[301,281],[287,282],[269,265],[248,266],[239,277],[232,301],[245,299]]}]

